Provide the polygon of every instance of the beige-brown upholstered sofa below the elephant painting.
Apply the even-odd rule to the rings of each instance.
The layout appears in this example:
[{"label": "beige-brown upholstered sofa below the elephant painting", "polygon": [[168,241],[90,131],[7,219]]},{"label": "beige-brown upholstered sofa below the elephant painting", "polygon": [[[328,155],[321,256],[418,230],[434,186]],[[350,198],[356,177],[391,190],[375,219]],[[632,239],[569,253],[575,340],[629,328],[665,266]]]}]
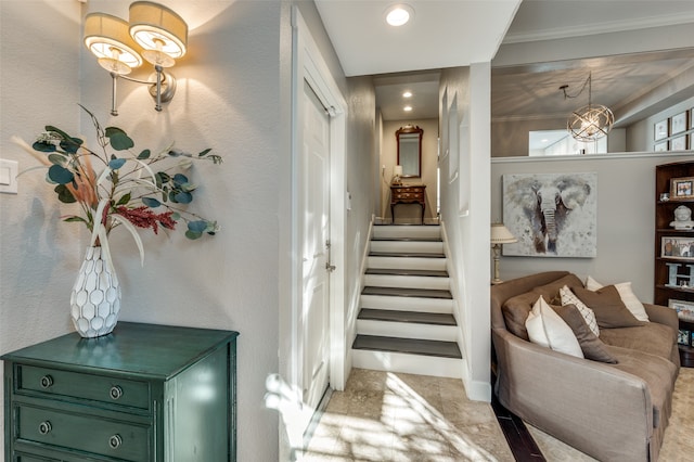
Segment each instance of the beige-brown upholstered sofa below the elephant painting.
[{"label": "beige-brown upholstered sofa below the elephant painting", "polygon": [[552,271],[492,286],[494,393],[525,422],[597,460],[656,461],[680,367],[677,315],[643,304],[650,322],[601,329],[599,338],[617,363],[557,352],[523,338],[518,325],[516,333],[507,329],[527,312],[506,301],[523,294],[556,300],[567,282],[582,285],[571,273]]}]

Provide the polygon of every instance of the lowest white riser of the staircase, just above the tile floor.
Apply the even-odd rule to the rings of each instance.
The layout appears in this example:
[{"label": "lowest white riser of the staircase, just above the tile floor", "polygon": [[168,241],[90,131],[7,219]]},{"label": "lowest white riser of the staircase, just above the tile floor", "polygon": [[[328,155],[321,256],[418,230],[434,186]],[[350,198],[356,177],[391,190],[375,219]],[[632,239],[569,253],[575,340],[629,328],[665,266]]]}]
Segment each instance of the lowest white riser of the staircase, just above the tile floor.
[{"label": "lowest white riser of the staircase, just above the tile floor", "polygon": [[352,349],[351,360],[359,369],[462,378],[462,362],[454,358]]}]

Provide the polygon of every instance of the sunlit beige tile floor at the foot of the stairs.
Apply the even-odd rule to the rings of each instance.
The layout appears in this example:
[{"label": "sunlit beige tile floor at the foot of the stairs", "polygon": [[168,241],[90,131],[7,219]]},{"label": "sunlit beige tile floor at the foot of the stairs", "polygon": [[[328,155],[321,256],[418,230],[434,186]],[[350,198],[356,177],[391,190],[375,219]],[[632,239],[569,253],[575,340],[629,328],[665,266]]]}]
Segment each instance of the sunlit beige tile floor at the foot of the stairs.
[{"label": "sunlit beige tile floor at the foot of the stairs", "polygon": [[304,461],[514,461],[491,406],[454,378],[352,370]]}]

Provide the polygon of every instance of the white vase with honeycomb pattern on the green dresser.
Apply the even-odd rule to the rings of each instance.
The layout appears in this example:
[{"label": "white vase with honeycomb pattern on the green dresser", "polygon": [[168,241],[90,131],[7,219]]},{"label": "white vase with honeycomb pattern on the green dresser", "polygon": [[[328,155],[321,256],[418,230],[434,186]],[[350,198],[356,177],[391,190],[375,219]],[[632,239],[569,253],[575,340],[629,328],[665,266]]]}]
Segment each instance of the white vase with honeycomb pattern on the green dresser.
[{"label": "white vase with honeycomb pattern on the green dresser", "polygon": [[82,337],[110,334],[118,322],[120,284],[99,246],[87,248],[69,296],[70,316]]}]

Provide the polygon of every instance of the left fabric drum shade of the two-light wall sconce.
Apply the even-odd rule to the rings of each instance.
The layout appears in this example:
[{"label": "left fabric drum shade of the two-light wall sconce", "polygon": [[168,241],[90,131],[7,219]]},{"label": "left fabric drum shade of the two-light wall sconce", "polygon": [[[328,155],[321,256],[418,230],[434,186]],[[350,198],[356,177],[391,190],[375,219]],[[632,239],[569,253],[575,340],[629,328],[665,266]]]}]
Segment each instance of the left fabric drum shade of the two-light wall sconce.
[{"label": "left fabric drum shade of the two-light wall sconce", "polygon": [[142,65],[128,23],[111,14],[90,13],[85,17],[85,46],[108,72],[126,75]]}]

